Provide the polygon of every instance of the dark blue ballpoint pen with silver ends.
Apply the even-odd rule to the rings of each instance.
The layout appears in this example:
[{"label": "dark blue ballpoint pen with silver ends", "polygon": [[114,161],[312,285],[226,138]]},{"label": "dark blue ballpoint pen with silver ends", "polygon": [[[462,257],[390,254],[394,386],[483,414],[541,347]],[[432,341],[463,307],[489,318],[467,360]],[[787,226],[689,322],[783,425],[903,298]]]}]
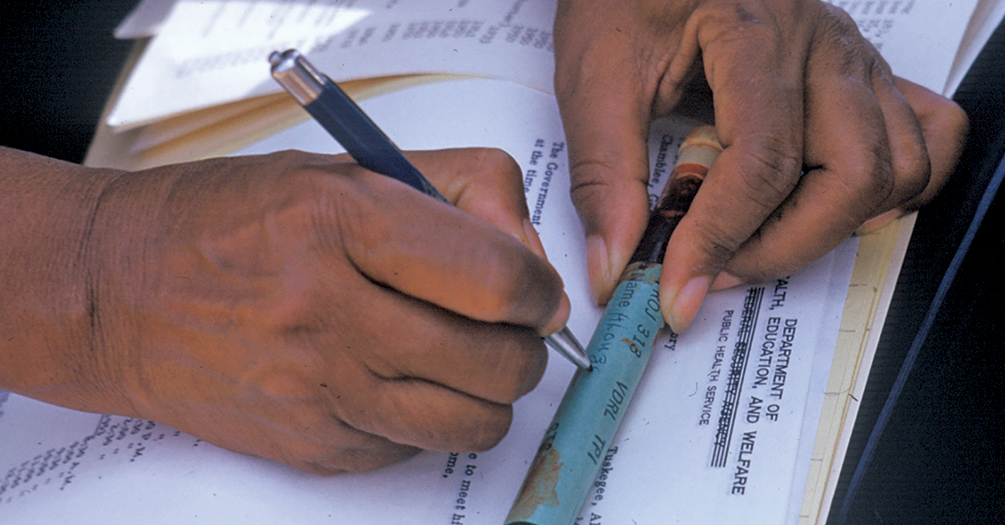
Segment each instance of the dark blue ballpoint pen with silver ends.
[{"label": "dark blue ballpoint pen with silver ends", "polygon": [[[346,148],[360,166],[449,203],[363,110],[299,51],[273,51],[268,61],[272,77]],[[549,335],[545,341],[576,366],[590,369],[586,351],[568,327]]]}]

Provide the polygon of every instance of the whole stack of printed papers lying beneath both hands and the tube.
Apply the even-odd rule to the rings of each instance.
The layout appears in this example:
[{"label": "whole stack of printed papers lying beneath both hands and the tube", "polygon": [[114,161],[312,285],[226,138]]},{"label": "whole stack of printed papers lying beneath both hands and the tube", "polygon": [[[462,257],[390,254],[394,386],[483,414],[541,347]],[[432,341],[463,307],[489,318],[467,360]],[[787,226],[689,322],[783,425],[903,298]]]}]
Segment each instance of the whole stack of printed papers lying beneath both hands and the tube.
[{"label": "whole stack of printed papers lying beneath both hands and the tube", "polygon": [[[589,299],[550,94],[554,4],[143,2],[121,27],[141,40],[87,163],[135,169],[283,148],[340,151],[268,74],[270,51],[296,47],[367,99],[364,109],[405,149],[510,152],[573,302],[570,326],[588,337],[600,312]],[[838,5],[897,74],[950,93],[1005,4]],[[651,193],[693,124],[653,126]],[[823,519],[912,223],[850,240],[789,279],[715,294],[687,334],[662,336],[580,523]],[[738,344],[745,315],[755,318],[749,345]],[[733,370],[736,362],[746,366]],[[334,479],[228,453],[159,423],[0,393],[0,515],[17,524],[501,523],[572,372],[552,359],[492,451],[424,453]]]}]

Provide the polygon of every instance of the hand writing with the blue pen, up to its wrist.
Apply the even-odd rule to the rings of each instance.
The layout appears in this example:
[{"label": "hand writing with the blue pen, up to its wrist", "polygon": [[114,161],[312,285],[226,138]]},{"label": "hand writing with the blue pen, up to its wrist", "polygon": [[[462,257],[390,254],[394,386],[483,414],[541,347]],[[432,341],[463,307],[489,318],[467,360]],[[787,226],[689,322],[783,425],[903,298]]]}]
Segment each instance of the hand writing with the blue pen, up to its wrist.
[{"label": "hand writing with the blue pen, up to its wrist", "polygon": [[88,336],[49,337],[60,359],[0,386],[323,474],[494,446],[568,299],[512,159],[413,159],[458,207],[298,152],[108,178],[80,251]]}]

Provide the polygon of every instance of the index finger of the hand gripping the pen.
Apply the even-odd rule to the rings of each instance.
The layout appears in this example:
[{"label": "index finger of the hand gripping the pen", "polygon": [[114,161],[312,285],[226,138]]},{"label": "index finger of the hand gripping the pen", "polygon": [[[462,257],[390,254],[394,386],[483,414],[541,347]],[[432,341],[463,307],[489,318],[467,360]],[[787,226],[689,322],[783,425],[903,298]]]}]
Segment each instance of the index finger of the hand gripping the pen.
[{"label": "index finger of the hand gripping the pen", "polygon": [[[461,152],[441,152],[461,155]],[[405,295],[462,316],[541,332],[568,317],[562,280],[495,225],[363,168],[359,198],[329,206],[356,270]]]}]

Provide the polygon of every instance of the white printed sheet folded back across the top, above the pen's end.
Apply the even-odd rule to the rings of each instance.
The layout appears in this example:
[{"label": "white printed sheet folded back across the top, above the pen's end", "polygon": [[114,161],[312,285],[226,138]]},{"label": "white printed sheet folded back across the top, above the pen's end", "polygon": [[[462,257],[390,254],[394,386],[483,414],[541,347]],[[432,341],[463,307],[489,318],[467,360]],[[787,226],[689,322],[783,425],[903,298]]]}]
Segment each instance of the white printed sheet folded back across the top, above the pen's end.
[{"label": "white printed sheet folded back across the top, above the pen's end", "polygon": [[[991,0],[986,0],[991,1]],[[836,0],[894,73],[946,88],[978,0]],[[109,125],[122,129],[276,93],[266,57],[299,48],[335,80],[406,73],[508,78],[551,92],[555,0],[179,0]]]}]

